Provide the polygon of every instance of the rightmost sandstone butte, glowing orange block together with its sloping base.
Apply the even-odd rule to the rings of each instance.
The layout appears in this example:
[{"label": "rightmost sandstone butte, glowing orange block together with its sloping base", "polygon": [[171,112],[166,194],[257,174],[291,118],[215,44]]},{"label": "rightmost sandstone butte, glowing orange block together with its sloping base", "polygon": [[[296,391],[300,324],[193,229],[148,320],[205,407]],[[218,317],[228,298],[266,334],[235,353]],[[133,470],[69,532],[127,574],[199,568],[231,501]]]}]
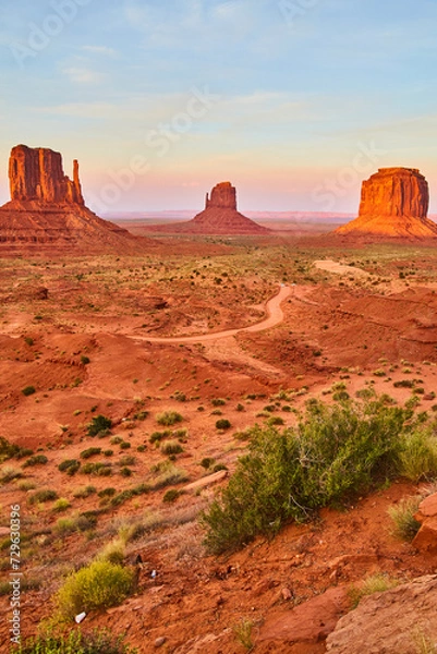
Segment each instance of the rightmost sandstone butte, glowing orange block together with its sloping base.
[{"label": "rightmost sandstone butte, glowing orange block together with its sloping base", "polygon": [[428,183],[415,168],[380,168],[363,182],[359,217],[333,233],[376,239],[435,239]]}]

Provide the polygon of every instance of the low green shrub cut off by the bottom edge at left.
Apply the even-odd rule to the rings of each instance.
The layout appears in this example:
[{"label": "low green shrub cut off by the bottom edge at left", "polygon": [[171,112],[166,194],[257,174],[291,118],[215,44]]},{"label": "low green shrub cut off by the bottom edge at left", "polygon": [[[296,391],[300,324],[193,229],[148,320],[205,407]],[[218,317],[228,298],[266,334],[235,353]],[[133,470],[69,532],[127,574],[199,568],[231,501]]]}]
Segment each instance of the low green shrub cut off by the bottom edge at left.
[{"label": "low green shrub cut off by the bottom edge at left", "polygon": [[11,654],[137,654],[137,650],[123,644],[123,638],[116,638],[109,630],[95,630],[83,633],[45,633],[31,638],[12,650]]}]

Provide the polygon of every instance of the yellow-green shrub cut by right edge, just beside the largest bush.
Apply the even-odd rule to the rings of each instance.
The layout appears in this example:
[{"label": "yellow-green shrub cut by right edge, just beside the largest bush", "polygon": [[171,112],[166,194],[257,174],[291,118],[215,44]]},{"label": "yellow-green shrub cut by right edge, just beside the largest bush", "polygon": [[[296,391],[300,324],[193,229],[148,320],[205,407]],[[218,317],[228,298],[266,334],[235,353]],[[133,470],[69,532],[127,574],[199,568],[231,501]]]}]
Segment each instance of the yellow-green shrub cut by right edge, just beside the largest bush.
[{"label": "yellow-green shrub cut by right edge, just beside the largest bush", "polygon": [[437,438],[430,427],[417,425],[404,435],[399,455],[400,474],[412,482],[437,475]]}]

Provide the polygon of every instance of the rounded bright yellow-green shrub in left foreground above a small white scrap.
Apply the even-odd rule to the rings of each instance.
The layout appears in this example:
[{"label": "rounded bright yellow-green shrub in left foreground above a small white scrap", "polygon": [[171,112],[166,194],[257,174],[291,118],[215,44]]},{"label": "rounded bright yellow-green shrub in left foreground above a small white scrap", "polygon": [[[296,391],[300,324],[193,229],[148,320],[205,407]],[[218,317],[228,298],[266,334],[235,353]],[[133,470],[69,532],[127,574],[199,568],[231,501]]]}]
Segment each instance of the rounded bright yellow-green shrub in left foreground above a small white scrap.
[{"label": "rounded bright yellow-green shrub in left foreground above a small white scrap", "polygon": [[134,588],[134,572],[110,561],[94,561],[71,573],[57,594],[61,616],[73,619],[81,611],[117,606]]}]

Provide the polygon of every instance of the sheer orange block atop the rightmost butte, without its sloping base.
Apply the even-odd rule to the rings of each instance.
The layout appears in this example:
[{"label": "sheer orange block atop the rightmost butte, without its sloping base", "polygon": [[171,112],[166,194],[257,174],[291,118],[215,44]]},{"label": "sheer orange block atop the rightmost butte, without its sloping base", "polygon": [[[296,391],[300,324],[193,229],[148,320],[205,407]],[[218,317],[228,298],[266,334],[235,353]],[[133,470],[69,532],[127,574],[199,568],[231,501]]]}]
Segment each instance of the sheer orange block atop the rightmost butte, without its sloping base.
[{"label": "sheer orange block atop the rightmost butte, without its sloping base", "polygon": [[426,218],[428,183],[416,168],[379,168],[363,182],[360,216]]}]

